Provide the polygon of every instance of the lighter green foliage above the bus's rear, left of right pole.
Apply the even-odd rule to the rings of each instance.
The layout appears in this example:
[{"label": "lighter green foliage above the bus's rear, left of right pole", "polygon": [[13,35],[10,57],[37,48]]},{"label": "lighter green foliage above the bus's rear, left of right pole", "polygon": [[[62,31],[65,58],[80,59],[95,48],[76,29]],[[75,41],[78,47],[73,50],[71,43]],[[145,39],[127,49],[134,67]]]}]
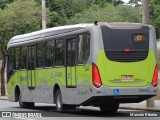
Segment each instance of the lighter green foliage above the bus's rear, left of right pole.
[{"label": "lighter green foliage above the bus's rear, left of right pole", "polygon": [[104,22],[141,22],[141,8],[131,6],[113,6],[105,4],[92,5],[87,11],[78,13],[67,21],[67,24],[93,23],[94,21]]}]

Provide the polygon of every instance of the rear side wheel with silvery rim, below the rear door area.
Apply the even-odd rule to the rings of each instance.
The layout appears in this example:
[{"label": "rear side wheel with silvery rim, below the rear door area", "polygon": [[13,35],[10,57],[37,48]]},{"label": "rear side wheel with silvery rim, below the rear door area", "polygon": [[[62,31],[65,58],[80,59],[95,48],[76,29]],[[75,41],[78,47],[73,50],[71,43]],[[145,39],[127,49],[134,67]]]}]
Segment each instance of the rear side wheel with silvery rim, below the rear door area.
[{"label": "rear side wheel with silvery rim, below the rear door area", "polygon": [[66,106],[62,103],[62,95],[60,89],[56,92],[56,110],[58,112],[64,112],[66,110]]}]

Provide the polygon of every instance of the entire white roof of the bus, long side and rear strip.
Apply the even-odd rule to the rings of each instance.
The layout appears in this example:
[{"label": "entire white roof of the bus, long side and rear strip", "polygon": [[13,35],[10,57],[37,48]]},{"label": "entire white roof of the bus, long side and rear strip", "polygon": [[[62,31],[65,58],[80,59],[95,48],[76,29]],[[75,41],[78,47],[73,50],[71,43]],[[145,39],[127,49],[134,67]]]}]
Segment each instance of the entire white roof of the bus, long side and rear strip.
[{"label": "entire white roof of the bus, long side and rear strip", "polygon": [[[39,30],[32,33],[27,33],[23,35],[17,35],[10,39],[7,48],[30,44],[33,42],[41,41],[43,38],[49,39],[49,37],[59,36],[59,35],[70,35],[71,32],[85,30],[86,28],[93,26],[94,24],[77,24],[77,25],[66,25],[54,28],[49,28],[45,30]],[[98,22],[98,25],[106,25],[113,29],[137,29],[144,26],[142,23],[122,23],[122,22]]]}]

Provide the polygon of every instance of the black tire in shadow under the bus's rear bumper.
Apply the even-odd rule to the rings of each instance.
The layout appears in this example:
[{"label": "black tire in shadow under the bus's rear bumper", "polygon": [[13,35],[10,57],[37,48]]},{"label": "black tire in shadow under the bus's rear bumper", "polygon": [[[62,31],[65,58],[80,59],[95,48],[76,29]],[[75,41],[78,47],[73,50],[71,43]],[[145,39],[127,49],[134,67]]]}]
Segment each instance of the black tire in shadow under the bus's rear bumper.
[{"label": "black tire in shadow under the bus's rear bumper", "polygon": [[119,103],[104,104],[100,106],[100,110],[105,113],[115,113],[119,108]]}]

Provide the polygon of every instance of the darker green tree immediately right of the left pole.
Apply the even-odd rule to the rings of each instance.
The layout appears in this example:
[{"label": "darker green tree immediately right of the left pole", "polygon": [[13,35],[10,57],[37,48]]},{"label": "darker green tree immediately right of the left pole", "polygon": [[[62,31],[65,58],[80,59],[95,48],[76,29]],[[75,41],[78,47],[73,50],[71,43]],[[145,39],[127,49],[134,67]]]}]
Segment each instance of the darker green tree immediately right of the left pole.
[{"label": "darker green tree immediately right of the left pole", "polygon": [[[39,0],[36,0],[41,4]],[[76,13],[87,10],[91,5],[91,0],[46,0],[46,6],[52,15],[49,27],[65,25],[67,19],[73,17]]]}]

